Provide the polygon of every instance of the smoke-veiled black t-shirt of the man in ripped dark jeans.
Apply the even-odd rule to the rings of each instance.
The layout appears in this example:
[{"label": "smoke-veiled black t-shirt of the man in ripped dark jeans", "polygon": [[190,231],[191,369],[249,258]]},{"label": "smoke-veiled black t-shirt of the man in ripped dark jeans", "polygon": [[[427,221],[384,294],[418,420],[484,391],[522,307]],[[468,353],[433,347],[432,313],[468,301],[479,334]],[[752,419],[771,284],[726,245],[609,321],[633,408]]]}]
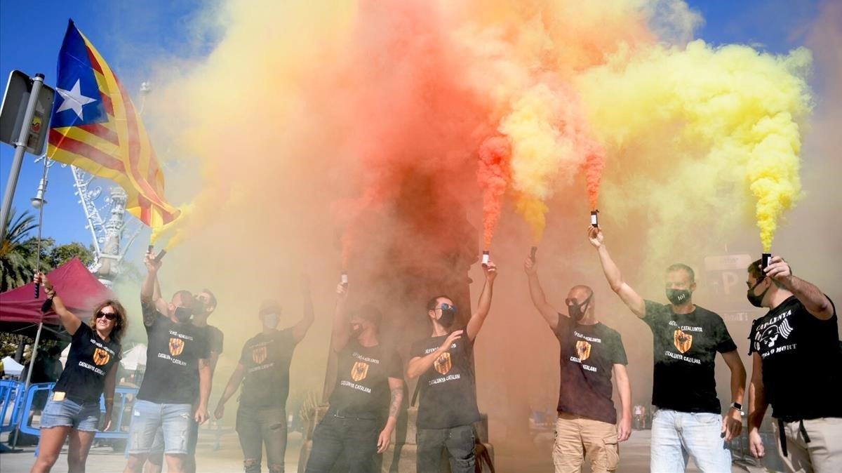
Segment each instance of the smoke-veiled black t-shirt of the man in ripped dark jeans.
[{"label": "smoke-veiled black t-shirt of the man in ripped dark jeans", "polygon": [[296,349],[292,329],[258,333],[242,346],[240,364],[246,369],[240,406],[285,407],[290,395],[290,363]]}]

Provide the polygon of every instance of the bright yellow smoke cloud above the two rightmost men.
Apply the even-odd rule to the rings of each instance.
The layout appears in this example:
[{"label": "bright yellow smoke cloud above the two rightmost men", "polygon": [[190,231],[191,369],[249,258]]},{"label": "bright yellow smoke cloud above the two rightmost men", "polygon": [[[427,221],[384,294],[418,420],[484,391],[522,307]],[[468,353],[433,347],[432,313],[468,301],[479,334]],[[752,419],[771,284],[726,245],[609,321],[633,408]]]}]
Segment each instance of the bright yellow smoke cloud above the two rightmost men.
[{"label": "bright yellow smoke cloud above the two rightmost men", "polygon": [[768,251],[781,214],[801,189],[810,64],[803,48],[774,56],[696,40],[686,48],[620,51],[582,74],[578,90],[590,123],[610,159],[622,161],[605,186],[626,189],[615,189],[610,204],[623,212],[645,206],[652,242],[671,248],[682,237],[680,227],[694,220],[718,221],[694,231],[733,225],[754,196]]}]

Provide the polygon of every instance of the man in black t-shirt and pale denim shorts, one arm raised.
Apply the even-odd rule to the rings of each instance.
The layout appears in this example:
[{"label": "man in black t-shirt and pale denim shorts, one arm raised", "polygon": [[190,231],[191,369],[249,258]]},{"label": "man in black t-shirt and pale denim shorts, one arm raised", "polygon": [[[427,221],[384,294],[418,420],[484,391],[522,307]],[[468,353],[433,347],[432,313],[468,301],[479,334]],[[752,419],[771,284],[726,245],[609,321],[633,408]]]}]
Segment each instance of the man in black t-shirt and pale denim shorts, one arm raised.
[{"label": "man in black t-shirt and pale denim shorts, one arm raised", "polygon": [[161,428],[168,470],[181,473],[189,451],[189,419],[204,423],[208,418],[210,350],[205,330],[189,322],[198,311],[193,295],[179,290],[163,307],[165,312],[157,310],[153,294],[161,262],[147,252],[144,263],[147,278],[141,289],[141,310],[149,338],[147,372],[132,407],[125,472],[141,471]]}]

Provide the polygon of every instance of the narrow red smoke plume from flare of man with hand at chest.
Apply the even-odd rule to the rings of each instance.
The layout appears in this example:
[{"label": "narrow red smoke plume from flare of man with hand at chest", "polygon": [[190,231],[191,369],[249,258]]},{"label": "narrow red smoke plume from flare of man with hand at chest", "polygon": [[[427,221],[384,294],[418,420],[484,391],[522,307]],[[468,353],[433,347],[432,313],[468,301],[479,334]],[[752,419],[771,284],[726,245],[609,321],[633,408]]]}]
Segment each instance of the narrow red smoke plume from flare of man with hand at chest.
[{"label": "narrow red smoke plume from flare of man with hand at chest", "polygon": [[500,220],[503,196],[509,186],[511,145],[504,136],[493,136],[479,149],[477,182],[482,189],[482,242],[483,249],[491,247],[494,230]]}]

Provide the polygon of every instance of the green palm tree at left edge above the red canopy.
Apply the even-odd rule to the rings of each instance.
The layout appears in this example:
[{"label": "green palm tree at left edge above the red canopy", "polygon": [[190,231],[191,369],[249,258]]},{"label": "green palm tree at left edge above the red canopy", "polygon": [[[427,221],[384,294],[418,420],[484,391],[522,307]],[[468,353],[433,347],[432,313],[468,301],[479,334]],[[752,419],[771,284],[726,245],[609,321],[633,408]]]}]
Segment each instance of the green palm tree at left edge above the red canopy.
[{"label": "green palm tree at left edge above the red canopy", "polygon": [[15,213],[15,209],[9,213],[8,231],[3,242],[0,242],[0,292],[28,283],[35,273],[37,242],[33,238],[26,238],[29,231],[38,226],[35,215],[29,212],[21,215]]}]

